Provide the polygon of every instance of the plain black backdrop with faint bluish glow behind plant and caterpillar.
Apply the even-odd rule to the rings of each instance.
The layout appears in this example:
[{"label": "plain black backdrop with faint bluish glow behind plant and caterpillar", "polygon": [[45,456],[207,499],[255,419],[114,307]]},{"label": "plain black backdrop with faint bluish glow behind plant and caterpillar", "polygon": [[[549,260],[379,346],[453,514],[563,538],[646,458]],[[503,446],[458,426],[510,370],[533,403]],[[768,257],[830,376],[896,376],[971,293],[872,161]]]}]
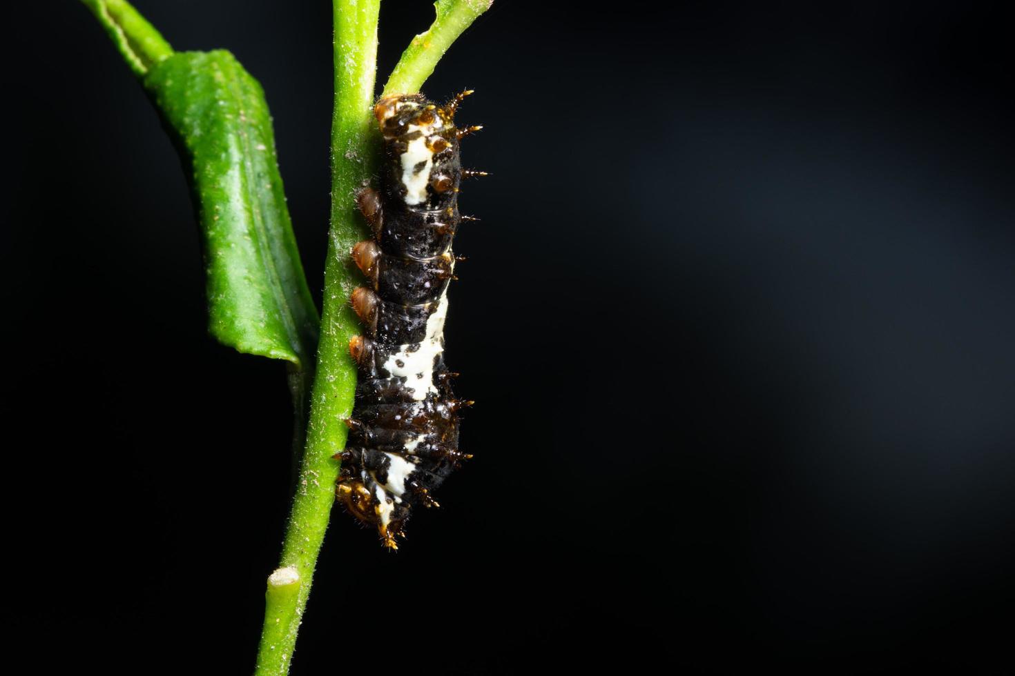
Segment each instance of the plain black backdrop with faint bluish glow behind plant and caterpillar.
[{"label": "plain black backdrop with faint bluish glow behind plant and caterpillar", "polygon": [[[336,511],[293,674],[1012,668],[1002,4],[497,0],[425,88],[486,126],[447,328],[476,457],[397,554]],[[136,5],[263,83],[319,292],[329,3]],[[385,3],[383,75],[431,16]],[[90,14],[7,27],[6,619],[39,671],[249,673],[284,368],[207,336]]]}]

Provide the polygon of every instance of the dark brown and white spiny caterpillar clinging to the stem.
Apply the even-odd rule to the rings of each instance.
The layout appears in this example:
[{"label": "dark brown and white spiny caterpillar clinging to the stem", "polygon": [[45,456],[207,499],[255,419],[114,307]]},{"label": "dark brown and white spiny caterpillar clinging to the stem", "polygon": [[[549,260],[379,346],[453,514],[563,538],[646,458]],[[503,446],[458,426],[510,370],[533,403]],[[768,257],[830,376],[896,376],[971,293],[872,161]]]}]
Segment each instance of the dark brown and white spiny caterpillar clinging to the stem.
[{"label": "dark brown and white spiny caterpillar clinging to the stem", "polygon": [[349,341],[358,380],[337,498],[359,522],[376,526],[385,546],[398,548],[416,506],[435,507],[431,494],[463,460],[456,373],[444,361],[448,285],[456,257],[452,239],[463,176],[459,141],[478,126],[458,129],[455,112],[471,90],[438,106],[420,94],[381,98],[374,108],[384,139],[380,190],[356,196],[374,239],[352,247],[368,285],[352,292],[364,335]]}]

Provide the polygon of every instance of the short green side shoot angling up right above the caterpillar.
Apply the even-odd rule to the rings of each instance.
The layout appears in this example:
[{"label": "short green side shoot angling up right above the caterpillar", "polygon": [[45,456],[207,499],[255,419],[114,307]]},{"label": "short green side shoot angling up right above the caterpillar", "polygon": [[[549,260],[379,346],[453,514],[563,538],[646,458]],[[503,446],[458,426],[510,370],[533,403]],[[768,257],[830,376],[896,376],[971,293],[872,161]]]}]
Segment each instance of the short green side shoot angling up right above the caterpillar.
[{"label": "short green side shoot angling up right above the caterpillar", "polygon": [[419,91],[462,31],[490,8],[493,0],[437,0],[436,18],[426,32],[412,39],[384,86],[384,95]]}]

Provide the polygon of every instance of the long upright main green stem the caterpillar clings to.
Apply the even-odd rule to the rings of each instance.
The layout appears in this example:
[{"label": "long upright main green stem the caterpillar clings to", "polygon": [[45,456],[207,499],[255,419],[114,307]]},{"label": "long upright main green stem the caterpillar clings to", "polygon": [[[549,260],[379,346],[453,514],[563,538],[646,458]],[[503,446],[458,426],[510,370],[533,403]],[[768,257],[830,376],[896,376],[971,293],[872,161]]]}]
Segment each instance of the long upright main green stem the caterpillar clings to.
[{"label": "long upright main green stem the caterpillar clings to", "polygon": [[279,564],[280,569],[295,569],[298,581],[292,583],[295,593],[291,589],[278,593],[269,582],[258,651],[258,676],[288,673],[314,568],[335,503],[339,463],[332,456],[345,447],[343,422],[352,412],[356,368],[348,354],[348,343],[362,329],[348,302],[357,279],[349,249],[367,237],[365,224],[355,208],[355,194],[369,177],[374,165],[376,144],[371,143],[375,131],[370,106],[377,73],[380,4],[380,0],[333,0],[335,106],[324,311],[307,446]]}]

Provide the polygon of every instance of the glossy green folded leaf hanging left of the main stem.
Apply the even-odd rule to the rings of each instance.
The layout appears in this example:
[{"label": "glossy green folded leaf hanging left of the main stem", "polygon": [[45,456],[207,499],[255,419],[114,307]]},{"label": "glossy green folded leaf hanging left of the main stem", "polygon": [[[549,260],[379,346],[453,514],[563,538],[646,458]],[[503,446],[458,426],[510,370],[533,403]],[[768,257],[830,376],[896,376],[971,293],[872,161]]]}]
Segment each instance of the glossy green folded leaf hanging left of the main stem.
[{"label": "glossy green folded leaf hanging left of the main stem", "polygon": [[209,330],[240,352],[312,367],[319,319],[261,85],[225,51],[178,52],[142,81],[194,191]]}]

